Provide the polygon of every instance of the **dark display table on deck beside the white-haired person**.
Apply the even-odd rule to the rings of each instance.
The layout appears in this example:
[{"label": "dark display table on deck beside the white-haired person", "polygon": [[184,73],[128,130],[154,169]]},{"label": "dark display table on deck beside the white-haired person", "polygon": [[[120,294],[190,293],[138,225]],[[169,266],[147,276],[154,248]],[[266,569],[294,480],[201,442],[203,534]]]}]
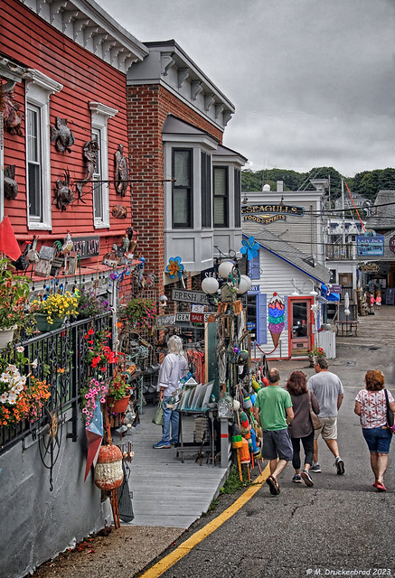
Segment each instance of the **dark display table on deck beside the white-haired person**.
[{"label": "dark display table on deck beside the white-haired person", "polygon": [[[212,465],[215,465],[215,440],[214,440],[214,418],[213,410],[208,407],[206,409],[182,409],[175,410],[180,414],[180,425],[178,430],[178,443],[175,446],[177,450],[177,458],[181,455],[181,461],[183,462],[184,453],[197,453],[196,460],[200,460],[202,465],[203,452],[208,451],[211,454]],[[195,439],[193,441],[184,441],[183,432],[183,420],[187,416],[194,415],[195,417],[204,417],[206,424],[202,431],[202,436],[200,439]],[[196,432],[196,430],[195,430]],[[186,437],[186,435],[185,435]],[[208,439],[207,439],[208,437]]]}]

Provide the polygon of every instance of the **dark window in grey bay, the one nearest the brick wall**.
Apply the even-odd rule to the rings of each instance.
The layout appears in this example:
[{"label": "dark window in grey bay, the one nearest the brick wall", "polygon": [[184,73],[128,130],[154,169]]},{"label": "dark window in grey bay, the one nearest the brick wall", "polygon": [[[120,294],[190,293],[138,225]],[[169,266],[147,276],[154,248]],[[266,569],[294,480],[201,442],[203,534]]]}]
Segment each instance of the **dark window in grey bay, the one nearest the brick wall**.
[{"label": "dark window in grey bay, the one nearest the brick wall", "polygon": [[193,228],[192,155],[192,149],[173,149],[173,228]]}]

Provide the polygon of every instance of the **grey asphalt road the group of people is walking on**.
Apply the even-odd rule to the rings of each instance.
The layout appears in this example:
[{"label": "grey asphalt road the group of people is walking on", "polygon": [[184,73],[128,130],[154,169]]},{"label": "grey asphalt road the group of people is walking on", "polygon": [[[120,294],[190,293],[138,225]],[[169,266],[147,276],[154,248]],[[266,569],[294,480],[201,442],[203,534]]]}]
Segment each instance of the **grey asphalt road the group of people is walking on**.
[{"label": "grey asphalt road the group of people is walking on", "polygon": [[[164,578],[260,578],[275,576],[395,574],[395,442],[386,474],[387,493],[372,486],[369,452],[354,398],[363,387],[367,369],[380,368],[395,392],[395,308],[382,307],[361,318],[359,337],[337,340],[337,358],[331,363],[343,381],[344,401],[338,417],[339,447],[345,474],[337,476],[332,453],[320,440],[322,473],[315,486],[291,483],[288,464],[279,478],[281,493],[271,496],[268,486],[233,517],[208,536]],[[283,382],[295,368],[311,375],[306,361],[273,362]]]}]

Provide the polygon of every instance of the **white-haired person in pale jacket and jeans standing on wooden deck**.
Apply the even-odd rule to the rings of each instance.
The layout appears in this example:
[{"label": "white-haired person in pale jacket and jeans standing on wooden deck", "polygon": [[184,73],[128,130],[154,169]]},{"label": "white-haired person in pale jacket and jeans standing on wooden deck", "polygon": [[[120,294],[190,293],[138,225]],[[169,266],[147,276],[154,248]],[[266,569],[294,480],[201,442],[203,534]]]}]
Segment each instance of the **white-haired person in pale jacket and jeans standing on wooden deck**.
[{"label": "white-haired person in pale jacket and jeans standing on wooden deck", "polygon": [[[168,449],[178,443],[180,414],[167,407],[167,402],[180,388],[180,379],[187,374],[187,363],[183,355],[183,340],[178,335],[172,335],[167,342],[167,355],[159,369],[157,389],[159,399],[164,403],[164,425],[162,439],[153,446],[155,450]],[[170,439],[170,425],[172,438]]]}]

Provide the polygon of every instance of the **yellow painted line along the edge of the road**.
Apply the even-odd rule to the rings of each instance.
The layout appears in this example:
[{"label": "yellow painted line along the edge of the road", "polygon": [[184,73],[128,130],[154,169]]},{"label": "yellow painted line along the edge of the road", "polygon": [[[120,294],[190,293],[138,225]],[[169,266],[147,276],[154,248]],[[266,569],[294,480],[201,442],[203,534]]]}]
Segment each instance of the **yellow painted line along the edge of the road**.
[{"label": "yellow painted line along the edge of the road", "polygon": [[246,504],[249,499],[257,493],[257,491],[263,486],[265,481],[269,475],[269,468],[268,465],[266,466],[265,470],[259,475],[259,477],[255,480],[253,486],[249,486],[248,489],[237,499],[233,504],[225,509],[219,516],[215,517],[211,522],[209,522],[206,526],[202,527],[202,529],[198,530],[193,534],[193,536],[189,537],[183,544],[179,545],[173,552],[169,555],[166,555],[165,558],[159,560],[154,566],[149,568],[144,574],[141,574],[140,578],[157,578],[161,574],[163,574],[166,570],[171,568],[176,562],[181,560],[183,556],[187,555],[191,550],[198,544],[200,544],[204,538],[210,536],[212,532],[214,532],[217,528],[222,526],[224,522],[229,520],[230,517],[234,516],[240,508]]}]

